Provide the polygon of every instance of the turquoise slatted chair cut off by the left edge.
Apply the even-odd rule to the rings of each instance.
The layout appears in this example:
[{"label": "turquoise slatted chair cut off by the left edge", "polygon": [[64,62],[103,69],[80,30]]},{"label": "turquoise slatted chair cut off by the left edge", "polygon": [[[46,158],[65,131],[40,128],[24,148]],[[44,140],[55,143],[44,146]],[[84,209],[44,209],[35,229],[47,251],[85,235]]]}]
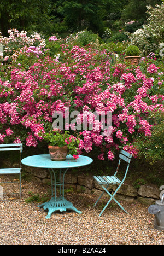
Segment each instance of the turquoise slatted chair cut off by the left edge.
[{"label": "turquoise slatted chair cut off by the left edge", "polygon": [[[19,174],[20,177],[20,193],[13,193],[13,194],[20,194],[20,199],[21,199],[21,158],[22,158],[22,143],[13,143],[13,144],[0,144],[0,152],[5,152],[5,151],[20,151],[20,167],[19,168],[3,168],[0,169],[0,174]],[[19,183],[19,182],[0,182],[2,183]]]}]

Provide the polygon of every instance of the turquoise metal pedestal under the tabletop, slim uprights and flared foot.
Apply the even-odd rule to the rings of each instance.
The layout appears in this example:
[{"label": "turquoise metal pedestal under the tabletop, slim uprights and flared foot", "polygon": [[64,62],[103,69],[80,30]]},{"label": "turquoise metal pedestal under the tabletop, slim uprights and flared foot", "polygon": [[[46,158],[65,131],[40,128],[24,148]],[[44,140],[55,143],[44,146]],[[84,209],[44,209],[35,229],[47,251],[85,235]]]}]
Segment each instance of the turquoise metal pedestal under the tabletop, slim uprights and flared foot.
[{"label": "turquoise metal pedestal under the tabletop, slim uprights and flared foot", "polygon": [[[68,169],[67,169],[68,170]],[[66,171],[67,171],[66,170]],[[81,214],[81,211],[78,211],[77,208],[73,206],[73,204],[69,201],[67,201],[64,197],[64,179],[65,179],[65,173],[63,173],[63,178],[61,182],[61,170],[59,174],[59,182],[56,182],[56,176],[53,169],[49,170],[51,175],[51,189],[52,189],[52,198],[49,202],[42,203],[42,205],[39,205],[38,207],[43,207],[44,210],[48,210],[48,215],[45,217],[46,219],[51,217],[51,214],[55,211],[66,211],[73,210],[79,214]],[[53,178],[54,176],[54,178]],[[56,197],[56,186],[60,187],[60,196]],[[54,186],[54,187],[53,187]],[[61,194],[61,186],[62,186],[62,194]]]}]

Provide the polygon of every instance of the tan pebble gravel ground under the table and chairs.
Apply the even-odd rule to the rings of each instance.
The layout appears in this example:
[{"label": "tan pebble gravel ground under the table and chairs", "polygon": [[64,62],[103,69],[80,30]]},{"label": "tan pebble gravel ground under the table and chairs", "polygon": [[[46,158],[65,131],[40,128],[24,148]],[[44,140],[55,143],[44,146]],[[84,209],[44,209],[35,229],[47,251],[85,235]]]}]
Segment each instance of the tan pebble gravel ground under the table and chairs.
[{"label": "tan pebble gravel ground under the table and chairs", "polygon": [[47,212],[38,203],[26,203],[34,194],[48,192],[48,185],[22,183],[22,199],[0,200],[0,245],[164,245],[164,232],[154,229],[154,216],[148,206],[138,202],[122,202],[129,214],[119,206],[93,208],[94,195],[66,193],[82,214],[73,211],[56,212],[45,219]]}]

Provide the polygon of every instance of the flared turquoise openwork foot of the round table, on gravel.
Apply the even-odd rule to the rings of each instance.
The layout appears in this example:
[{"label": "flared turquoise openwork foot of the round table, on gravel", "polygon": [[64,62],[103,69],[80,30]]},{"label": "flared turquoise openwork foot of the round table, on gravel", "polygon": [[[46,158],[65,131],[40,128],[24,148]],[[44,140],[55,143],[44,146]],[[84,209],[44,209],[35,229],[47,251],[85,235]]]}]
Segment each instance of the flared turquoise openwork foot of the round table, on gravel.
[{"label": "flared turquoise openwork foot of the round table, on gravel", "polygon": [[54,197],[51,198],[49,202],[42,203],[42,205],[39,205],[38,207],[43,207],[44,210],[48,209],[48,215],[45,217],[46,219],[51,217],[51,214],[55,211],[66,211],[67,209],[73,210],[79,214],[82,212],[78,211],[77,208],[73,206],[73,204],[66,199],[62,199],[61,197],[57,197],[56,200]]}]

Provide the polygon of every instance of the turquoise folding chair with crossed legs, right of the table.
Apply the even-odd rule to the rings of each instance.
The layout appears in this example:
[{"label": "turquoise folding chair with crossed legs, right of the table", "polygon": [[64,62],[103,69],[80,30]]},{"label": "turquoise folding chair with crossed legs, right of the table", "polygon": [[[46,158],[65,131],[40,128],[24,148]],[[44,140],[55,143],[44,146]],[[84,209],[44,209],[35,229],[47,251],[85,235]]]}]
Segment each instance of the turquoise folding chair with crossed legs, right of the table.
[{"label": "turquoise folding chair with crossed legs, right of the table", "polygon": [[[114,198],[115,194],[118,192],[118,190],[120,189],[121,185],[124,183],[125,179],[126,179],[126,175],[127,175],[127,172],[128,172],[128,168],[129,168],[129,165],[130,165],[130,161],[131,161],[131,158],[132,158],[132,155],[127,153],[126,151],[124,150],[121,150],[120,154],[119,154],[119,163],[118,163],[118,167],[116,169],[116,172],[114,173],[114,176],[93,176],[93,178],[95,179],[95,181],[103,188],[104,191],[107,192],[107,194],[110,196],[110,200],[108,201],[107,205],[103,208],[102,212],[99,214],[99,217],[101,216],[101,214],[103,213],[103,211],[107,208],[107,206],[109,205],[110,201],[112,201],[112,199],[118,203],[118,205],[121,207],[122,210],[125,211],[124,207],[122,207],[120,205],[120,203]],[[122,181],[120,181],[119,178],[116,177],[116,174],[118,173],[118,170],[119,170],[119,167],[120,167],[120,163],[121,163],[121,160],[124,160],[127,162],[127,168],[126,168],[126,172],[125,172],[125,175],[124,175],[124,178],[122,179]],[[109,191],[107,190],[109,185],[116,185],[118,184],[118,188],[115,190],[115,192],[112,194],[109,193]],[[104,194],[104,191],[103,193],[101,194],[101,196],[99,196],[97,202],[99,201],[99,199],[101,199],[102,195]],[[93,207],[95,207],[97,205],[97,202],[95,203],[95,205]],[[126,211],[125,211],[126,212]],[[126,212],[127,213],[127,212]]]}]

